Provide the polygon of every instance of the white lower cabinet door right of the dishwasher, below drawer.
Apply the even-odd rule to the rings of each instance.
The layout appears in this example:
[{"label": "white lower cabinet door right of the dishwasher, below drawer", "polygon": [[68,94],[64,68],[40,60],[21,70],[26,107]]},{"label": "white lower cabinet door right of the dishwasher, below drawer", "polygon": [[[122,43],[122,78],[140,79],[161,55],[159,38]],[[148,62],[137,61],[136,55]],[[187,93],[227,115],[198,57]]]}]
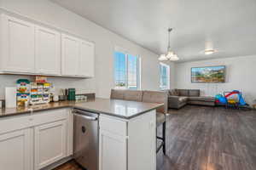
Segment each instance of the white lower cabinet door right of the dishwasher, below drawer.
[{"label": "white lower cabinet door right of the dishwasher, below drawer", "polygon": [[126,170],[126,137],[100,130],[100,170]]}]

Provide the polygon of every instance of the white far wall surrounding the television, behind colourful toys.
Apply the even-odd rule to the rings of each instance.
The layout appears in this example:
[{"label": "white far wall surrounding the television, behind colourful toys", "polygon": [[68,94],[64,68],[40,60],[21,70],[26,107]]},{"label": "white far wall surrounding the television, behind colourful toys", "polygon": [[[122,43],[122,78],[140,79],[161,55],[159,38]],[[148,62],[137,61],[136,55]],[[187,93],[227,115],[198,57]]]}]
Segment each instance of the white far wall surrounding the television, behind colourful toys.
[{"label": "white far wall surrounding the television, behind colourful toys", "polygon": [[[198,88],[201,95],[223,94],[224,91],[240,90],[247,103],[256,99],[256,55],[226,59],[210,59],[175,65],[175,88]],[[191,67],[226,65],[225,83],[191,83]]]}]

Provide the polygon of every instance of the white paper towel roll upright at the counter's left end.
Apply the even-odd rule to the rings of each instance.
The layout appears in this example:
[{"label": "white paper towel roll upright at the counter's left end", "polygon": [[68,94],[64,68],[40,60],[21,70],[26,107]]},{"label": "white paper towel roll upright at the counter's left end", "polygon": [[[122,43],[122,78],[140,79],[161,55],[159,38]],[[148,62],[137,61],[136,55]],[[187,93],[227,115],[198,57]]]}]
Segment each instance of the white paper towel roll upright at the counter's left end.
[{"label": "white paper towel roll upright at the counter's left end", "polygon": [[16,107],[16,88],[5,88],[5,107]]}]

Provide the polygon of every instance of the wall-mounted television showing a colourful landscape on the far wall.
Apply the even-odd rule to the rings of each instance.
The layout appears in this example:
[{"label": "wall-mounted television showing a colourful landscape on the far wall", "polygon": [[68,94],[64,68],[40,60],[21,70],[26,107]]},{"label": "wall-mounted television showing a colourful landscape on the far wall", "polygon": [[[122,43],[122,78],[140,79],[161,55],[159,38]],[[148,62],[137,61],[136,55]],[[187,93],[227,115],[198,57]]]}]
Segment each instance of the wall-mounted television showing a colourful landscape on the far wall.
[{"label": "wall-mounted television showing a colourful landscape on the far wall", "polygon": [[225,65],[192,67],[191,82],[225,82]]}]

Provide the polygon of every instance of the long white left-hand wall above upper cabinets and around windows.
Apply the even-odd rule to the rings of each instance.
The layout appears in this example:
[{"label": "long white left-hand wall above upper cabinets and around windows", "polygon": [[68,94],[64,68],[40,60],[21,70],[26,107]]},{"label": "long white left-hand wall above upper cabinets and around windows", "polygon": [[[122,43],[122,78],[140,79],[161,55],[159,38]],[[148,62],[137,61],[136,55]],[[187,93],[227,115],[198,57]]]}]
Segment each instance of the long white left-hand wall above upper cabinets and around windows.
[{"label": "long white left-hand wall above upper cabinets and around windows", "polygon": [[[26,15],[28,18],[60,27],[96,43],[96,77],[92,79],[50,78],[49,82],[54,82],[56,87],[80,88],[84,92],[95,92],[97,97],[108,98],[110,89],[114,86],[113,49],[118,46],[131,51],[131,54],[138,54],[142,58],[142,89],[159,89],[158,56],[134,42],[130,42],[47,0],[0,0],[0,5],[16,13]],[[171,71],[172,69],[174,69],[173,65]],[[3,88],[14,86],[18,78],[20,76],[0,76],[0,98],[3,98]]]}]

